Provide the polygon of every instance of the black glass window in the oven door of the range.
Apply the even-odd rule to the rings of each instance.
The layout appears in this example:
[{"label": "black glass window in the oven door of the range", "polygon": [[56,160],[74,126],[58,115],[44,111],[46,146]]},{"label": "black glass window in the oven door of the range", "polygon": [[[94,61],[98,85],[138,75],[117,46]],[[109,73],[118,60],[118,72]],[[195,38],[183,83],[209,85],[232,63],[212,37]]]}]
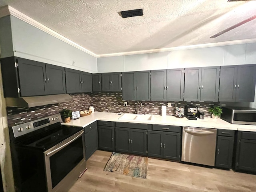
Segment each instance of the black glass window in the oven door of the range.
[{"label": "black glass window in the oven door of the range", "polygon": [[52,188],[84,158],[82,136],[50,157]]}]

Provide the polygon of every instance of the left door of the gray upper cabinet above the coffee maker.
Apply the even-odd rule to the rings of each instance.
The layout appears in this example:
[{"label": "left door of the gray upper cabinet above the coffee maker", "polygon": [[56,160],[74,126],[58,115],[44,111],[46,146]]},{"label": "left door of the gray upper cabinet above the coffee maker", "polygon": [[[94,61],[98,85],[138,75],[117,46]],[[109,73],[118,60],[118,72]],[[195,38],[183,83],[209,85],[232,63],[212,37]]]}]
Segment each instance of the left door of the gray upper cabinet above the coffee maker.
[{"label": "left door of the gray upper cabinet above the coffee maker", "polygon": [[184,87],[185,101],[200,101],[201,73],[202,68],[186,68]]}]

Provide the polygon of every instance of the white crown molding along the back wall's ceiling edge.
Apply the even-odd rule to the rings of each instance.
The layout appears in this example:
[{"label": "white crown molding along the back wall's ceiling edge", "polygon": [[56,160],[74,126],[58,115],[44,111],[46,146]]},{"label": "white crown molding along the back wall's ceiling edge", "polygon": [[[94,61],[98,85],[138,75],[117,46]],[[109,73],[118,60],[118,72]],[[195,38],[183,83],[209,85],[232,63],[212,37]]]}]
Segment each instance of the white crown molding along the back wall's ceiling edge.
[{"label": "white crown molding along the back wall's ceiling edge", "polygon": [[254,42],[256,42],[256,38],[233,40],[233,41],[224,41],[224,42],[216,42],[216,43],[205,43],[205,44],[198,44],[198,45],[187,45],[187,46],[170,47],[170,48],[161,48],[161,49],[149,49],[149,50],[142,50],[142,51],[120,52],[120,53],[110,53],[110,54],[98,54],[97,58],[113,57],[113,56],[125,56],[125,55],[136,55],[136,54],[146,54],[146,53],[168,52],[168,51],[196,49],[196,48],[207,48],[207,47],[217,47],[217,46],[236,45],[236,44],[254,43]]}]

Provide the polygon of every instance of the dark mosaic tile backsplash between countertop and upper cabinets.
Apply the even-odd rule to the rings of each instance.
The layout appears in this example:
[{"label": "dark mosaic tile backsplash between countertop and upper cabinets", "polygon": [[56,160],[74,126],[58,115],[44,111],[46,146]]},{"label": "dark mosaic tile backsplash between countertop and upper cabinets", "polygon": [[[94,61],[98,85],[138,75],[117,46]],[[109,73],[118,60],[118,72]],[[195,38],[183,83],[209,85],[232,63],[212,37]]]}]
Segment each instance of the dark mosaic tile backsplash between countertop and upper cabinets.
[{"label": "dark mosaic tile backsplash between countertop and upper cabinets", "polygon": [[[128,106],[124,106],[122,93],[89,93],[73,94],[73,99],[69,102],[51,104],[34,108],[7,108],[7,117],[9,126],[28,122],[34,119],[42,118],[52,114],[59,113],[62,109],[68,108],[72,111],[88,110],[94,106],[94,111],[114,112],[114,113],[137,113],[137,103],[142,102],[140,114],[161,115],[161,106],[168,105],[166,101],[127,101]],[[166,108],[166,115],[174,115],[176,106],[193,105],[204,111],[205,117],[210,117],[208,109],[214,105],[220,105],[219,102],[171,102],[171,107]]]}]

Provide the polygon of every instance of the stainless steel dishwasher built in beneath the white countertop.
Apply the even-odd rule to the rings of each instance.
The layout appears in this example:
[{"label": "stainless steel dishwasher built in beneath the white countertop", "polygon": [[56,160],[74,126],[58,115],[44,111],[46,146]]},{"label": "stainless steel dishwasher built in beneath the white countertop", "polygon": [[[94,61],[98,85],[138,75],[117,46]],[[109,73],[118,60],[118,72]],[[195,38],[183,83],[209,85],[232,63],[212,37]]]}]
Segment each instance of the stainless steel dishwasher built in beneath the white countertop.
[{"label": "stainless steel dishwasher built in beneath the white countertop", "polygon": [[183,127],[181,160],[214,166],[216,134],[216,129]]}]

